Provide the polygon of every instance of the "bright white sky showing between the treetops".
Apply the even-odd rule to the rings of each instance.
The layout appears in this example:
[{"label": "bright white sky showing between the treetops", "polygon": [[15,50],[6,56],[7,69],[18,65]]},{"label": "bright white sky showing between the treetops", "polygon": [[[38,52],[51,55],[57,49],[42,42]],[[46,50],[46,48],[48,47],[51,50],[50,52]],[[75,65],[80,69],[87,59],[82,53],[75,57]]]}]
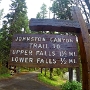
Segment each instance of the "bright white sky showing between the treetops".
[{"label": "bright white sky showing between the treetops", "polygon": [[[28,18],[35,18],[36,14],[40,11],[40,7],[45,3],[47,5],[47,9],[51,5],[50,0],[26,0],[27,5],[27,15]],[[2,0],[0,3],[0,9],[4,9],[4,15],[9,11],[9,5],[11,4],[10,0]]]}]

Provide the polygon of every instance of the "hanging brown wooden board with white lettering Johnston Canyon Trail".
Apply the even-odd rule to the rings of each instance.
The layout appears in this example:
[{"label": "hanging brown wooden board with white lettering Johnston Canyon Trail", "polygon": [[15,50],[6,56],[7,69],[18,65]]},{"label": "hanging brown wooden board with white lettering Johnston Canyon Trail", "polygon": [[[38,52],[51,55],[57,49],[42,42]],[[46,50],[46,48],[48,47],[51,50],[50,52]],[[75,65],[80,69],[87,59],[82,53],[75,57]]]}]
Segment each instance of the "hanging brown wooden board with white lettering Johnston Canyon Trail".
[{"label": "hanging brown wooden board with white lettering Johnston Canyon Trail", "polygon": [[15,34],[9,65],[78,67],[76,37],[52,34]]}]

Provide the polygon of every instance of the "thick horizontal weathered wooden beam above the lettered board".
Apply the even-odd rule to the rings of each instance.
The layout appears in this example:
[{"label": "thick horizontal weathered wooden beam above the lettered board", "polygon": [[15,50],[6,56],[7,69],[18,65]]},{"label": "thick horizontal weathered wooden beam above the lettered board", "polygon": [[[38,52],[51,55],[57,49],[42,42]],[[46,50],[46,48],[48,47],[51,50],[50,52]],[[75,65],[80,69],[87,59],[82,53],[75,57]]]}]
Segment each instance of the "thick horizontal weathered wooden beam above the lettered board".
[{"label": "thick horizontal weathered wooden beam above the lettered board", "polygon": [[[87,24],[90,33],[90,24]],[[57,19],[30,19],[30,30],[32,31],[57,31],[57,32],[80,32],[78,21],[57,20]]]}]

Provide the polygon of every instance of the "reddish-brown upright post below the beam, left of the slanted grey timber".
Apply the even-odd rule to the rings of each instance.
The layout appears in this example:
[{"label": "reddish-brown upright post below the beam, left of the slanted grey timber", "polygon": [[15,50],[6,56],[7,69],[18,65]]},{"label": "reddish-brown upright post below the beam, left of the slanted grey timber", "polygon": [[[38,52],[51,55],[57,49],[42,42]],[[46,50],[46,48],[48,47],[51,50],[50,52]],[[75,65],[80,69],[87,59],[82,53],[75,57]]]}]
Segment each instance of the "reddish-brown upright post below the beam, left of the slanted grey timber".
[{"label": "reddish-brown upright post below the beam, left of the slanted grey timber", "polygon": [[80,55],[81,55],[81,63],[82,63],[83,90],[90,90],[90,89],[88,89],[88,68],[87,68],[86,53],[85,53],[81,34],[78,34],[78,41],[79,41],[79,45],[80,45]]}]

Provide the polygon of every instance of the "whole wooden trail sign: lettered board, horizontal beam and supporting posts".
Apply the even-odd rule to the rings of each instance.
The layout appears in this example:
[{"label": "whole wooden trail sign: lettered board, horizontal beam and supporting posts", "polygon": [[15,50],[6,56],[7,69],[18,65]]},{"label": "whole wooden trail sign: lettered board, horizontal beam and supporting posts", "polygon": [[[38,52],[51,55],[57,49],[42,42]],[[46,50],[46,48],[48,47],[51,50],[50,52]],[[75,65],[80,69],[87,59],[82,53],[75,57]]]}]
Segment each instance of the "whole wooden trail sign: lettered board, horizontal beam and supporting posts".
[{"label": "whole wooden trail sign: lettered board, horizontal beam and supporting posts", "polygon": [[[52,20],[31,19],[29,27],[32,31],[57,31],[57,32],[72,32],[77,34],[78,43],[80,46],[81,63],[82,63],[83,90],[90,90],[90,60],[89,60],[90,59],[90,36],[89,36],[90,24],[86,24],[84,22],[79,8],[73,7],[72,13],[74,17],[73,19],[75,21],[55,20],[55,19]],[[35,38],[34,35],[26,35],[26,34],[21,34],[21,35],[17,34],[14,36],[12,42],[12,48],[10,51],[9,65],[29,66],[29,67],[50,67],[50,68],[79,66],[77,45],[74,36],[64,35],[63,37],[61,35],[49,36],[45,34],[44,35],[38,34],[36,35],[38,38],[40,37],[45,39],[43,40],[40,39],[41,41],[39,40],[30,41],[31,43],[36,43],[34,45],[32,44],[32,46],[30,46],[29,41],[28,42],[22,40],[18,41],[16,39],[17,37],[23,37],[23,36]],[[55,38],[65,38],[64,39],[65,42],[62,42],[63,40],[61,40],[61,42],[57,42],[57,40],[55,40],[55,42],[52,42],[51,37],[53,37],[52,40],[54,40]],[[66,39],[68,39],[69,41],[68,43]],[[41,46],[39,46],[39,44],[41,44]],[[24,53],[22,54],[22,52]],[[33,59],[30,59],[30,62],[27,62],[28,61],[27,56]],[[15,57],[26,57],[26,59],[24,59],[23,62],[20,62],[21,59],[18,58],[15,59]],[[38,57],[40,58],[39,60],[37,59]]]}]

